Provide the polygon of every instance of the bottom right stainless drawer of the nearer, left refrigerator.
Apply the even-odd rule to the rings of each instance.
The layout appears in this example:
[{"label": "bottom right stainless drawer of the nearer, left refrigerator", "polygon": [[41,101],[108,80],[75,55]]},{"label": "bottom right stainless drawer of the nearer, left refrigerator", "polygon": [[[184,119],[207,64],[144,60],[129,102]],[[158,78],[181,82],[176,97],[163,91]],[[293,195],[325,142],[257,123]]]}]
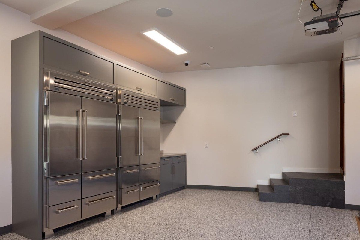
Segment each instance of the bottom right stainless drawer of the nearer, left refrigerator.
[{"label": "bottom right stainless drawer of the nearer, left refrigerator", "polygon": [[116,208],[116,191],[81,199],[82,218],[87,218]]}]

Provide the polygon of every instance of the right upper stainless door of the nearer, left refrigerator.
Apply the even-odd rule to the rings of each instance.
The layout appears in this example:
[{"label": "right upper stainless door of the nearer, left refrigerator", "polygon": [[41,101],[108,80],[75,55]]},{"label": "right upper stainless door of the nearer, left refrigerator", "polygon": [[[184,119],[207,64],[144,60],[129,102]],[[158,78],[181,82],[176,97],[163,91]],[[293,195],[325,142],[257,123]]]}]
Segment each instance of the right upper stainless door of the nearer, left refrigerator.
[{"label": "right upper stainless door of the nearer, left refrigerator", "polygon": [[81,107],[85,158],[82,172],[116,168],[116,103],[82,97]]}]

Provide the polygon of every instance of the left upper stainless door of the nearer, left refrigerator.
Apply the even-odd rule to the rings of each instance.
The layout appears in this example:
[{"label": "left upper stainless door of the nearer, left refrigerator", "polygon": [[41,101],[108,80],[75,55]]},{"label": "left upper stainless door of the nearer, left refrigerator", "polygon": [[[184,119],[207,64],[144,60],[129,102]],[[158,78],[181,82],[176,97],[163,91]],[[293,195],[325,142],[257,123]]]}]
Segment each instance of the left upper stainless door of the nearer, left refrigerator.
[{"label": "left upper stainless door of the nearer, left refrigerator", "polygon": [[49,177],[81,172],[80,109],[81,97],[49,92],[45,143]]}]

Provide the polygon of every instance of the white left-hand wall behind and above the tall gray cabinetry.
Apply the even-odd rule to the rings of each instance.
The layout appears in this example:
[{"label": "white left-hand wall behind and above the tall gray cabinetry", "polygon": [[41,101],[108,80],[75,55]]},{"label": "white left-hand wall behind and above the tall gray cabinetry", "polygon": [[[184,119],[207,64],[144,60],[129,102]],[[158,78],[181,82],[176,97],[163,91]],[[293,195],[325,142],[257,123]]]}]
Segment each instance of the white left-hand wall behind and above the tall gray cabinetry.
[{"label": "white left-hand wall behind and above the tall gray cabinetry", "polygon": [[11,206],[11,40],[28,33],[41,30],[75,43],[81,47],[107,56],[123,64],[162,78],[162,73],[137,63],[77,37],[71,33],[56,29],[50,31],[29,21],[29,15],[0,3],[0,227],[12,223]]}]

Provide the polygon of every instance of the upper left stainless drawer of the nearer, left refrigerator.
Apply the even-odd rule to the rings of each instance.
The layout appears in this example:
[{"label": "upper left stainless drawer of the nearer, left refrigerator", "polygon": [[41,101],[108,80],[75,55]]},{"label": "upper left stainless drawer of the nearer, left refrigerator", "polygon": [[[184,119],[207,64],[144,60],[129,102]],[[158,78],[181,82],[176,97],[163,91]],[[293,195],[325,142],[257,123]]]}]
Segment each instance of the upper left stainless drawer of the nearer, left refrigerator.
[{"label": "upper left stainless drawer of the nearer, left refrigerator", "polygon": [[81,199],[80,174],[49,177],[47,181],[49,206]]}]

